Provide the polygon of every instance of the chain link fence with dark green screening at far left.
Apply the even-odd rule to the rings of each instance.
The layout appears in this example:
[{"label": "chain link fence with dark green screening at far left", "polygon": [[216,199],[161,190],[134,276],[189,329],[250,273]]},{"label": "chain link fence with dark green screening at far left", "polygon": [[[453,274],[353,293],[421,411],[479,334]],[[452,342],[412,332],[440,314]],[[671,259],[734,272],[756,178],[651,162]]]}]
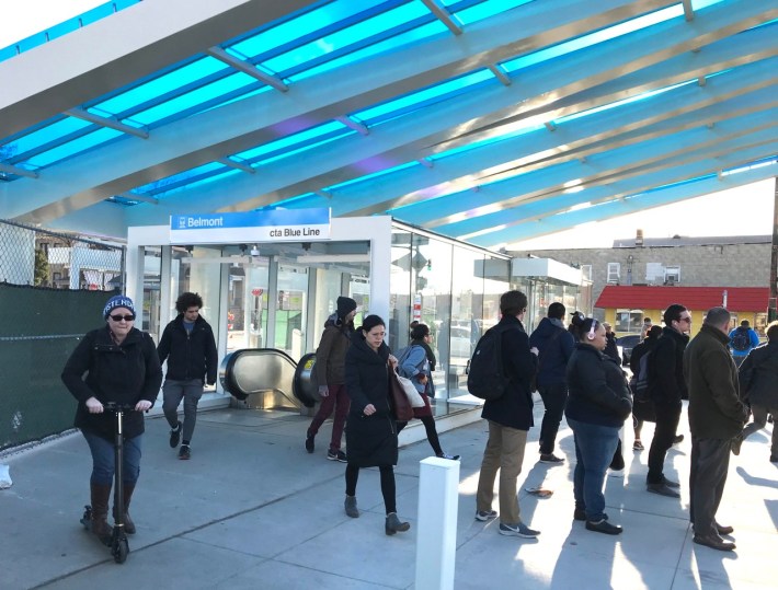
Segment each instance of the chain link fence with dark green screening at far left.
[{"label": "chain link fence with dark green screening at far left", "polygon": [[0,451],[72,427],[59,375],[124,291],[124,264],[119,245],[0,220]]}]

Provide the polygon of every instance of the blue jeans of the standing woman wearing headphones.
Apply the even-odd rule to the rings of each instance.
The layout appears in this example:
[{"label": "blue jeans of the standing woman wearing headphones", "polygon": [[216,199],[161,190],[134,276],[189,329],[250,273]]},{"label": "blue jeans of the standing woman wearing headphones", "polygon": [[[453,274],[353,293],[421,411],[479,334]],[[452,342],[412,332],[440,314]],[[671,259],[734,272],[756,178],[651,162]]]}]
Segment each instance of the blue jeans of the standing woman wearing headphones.
[{"label": "blue jeans of the standing woman wearing headphones", "polygon": [[568,418],[575,438],[575,471],[573,494],[575,508],[586,511],[586,520],[598,522],[605,518],[605,473],[619,443],[619,428],[582,423]]}]

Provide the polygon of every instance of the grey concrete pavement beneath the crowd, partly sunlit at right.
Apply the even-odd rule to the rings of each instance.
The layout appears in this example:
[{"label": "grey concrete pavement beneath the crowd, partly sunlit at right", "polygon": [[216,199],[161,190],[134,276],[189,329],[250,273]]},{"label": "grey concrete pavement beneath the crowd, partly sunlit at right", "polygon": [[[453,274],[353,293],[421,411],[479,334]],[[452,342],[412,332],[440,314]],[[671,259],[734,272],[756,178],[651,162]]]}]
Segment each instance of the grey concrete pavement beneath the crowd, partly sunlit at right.
[{"label": "grey concrete pavement beneath the crowd, partly sunlit at right", "polygon": [[[538,404],[538,425],[541,412]],[[316,453],[308,454],[302,447],[308,421],[281,412],[203,413],[192,460],[179,461],[168,446],[164,420],[149,419],[131,509],[138,533],[129,539],[123,565],[79,523],[90,473],[80,435],[7,454],[0,462],[10,465],[13,486],[0,491],[0,587],[413,588],[419,461],[431,454],[430,446],[422,441],[400,452],[398,509],[412,529],[386,536],[377,470],[361,473],[362,517],[350,519],[343,512],[344,464],[324,460],[330,423],[317,438]],[[643,433],[647,446],[651,426]],[[741,455],[732,458],[719,520],[735,528],[737,551],[721,553],[691,543],[688,432],[668,453],[666,471],[684,484],[680,500],[645,491],[648,450],[625,453],[623,475],[607,479],[608,513],[625,528],[611,537],[572,519],[570,430],[563,423],[558,454],[568,461],[562,466],[537,463],[538,430],[530,430],[519,477],[522,518],[542,532],[537,540],[505,537],[497,534],[496,522],[473,519],[485,423],[441,436],[446,451],[462,455],[457,589],[778,586],[778,465],[768,462],[769,432],[750,438]],[[631,449],[631,432],[625,442]],[[553,496],[539,499],[526,491],[539,485]]]}]

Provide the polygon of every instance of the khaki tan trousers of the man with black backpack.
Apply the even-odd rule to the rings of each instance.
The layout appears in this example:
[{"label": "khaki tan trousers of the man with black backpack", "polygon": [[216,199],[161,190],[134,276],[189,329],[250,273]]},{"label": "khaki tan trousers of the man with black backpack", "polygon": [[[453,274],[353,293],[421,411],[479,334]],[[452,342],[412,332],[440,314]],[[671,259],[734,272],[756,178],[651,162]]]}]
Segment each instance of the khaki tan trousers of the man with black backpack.
[{"label": "khaki tan trousers of the man with black backpack", "polygon": [[494,499],[494,479],[500,471],[500,522],[520,522],[516,481],[522,473],[527,431],[489,421],[489,440],[483,451],[476,493],[476,510],[489,511]]}]

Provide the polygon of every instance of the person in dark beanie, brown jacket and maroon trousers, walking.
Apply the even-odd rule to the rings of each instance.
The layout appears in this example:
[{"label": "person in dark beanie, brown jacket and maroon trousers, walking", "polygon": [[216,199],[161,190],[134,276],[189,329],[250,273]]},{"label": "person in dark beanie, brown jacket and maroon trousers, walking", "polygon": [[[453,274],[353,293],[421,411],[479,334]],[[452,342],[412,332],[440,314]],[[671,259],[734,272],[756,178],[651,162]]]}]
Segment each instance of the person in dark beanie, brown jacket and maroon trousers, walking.
[{"label": "person in dark beanie, brown jacket and maroon trousers, walking", "polygon": [[317,381],[320,383],[321,404],[306,432],[306,450],[312,453],[316,450],[313,439],[319,433],[319,428],[334,412],[335,417],[332,420],[332,436],[327,459],[341,463],[346,462],[346,453],[341,451],[341,440],[351,405],[344,385],[345,361],[346,350],[354,334],[355,315],[356,301],[350,297],[339,297],[335,313],[330,315],[324,323],[324,332],[321,335],[319,348],[316,350],[316,362],[313,363]]}]

